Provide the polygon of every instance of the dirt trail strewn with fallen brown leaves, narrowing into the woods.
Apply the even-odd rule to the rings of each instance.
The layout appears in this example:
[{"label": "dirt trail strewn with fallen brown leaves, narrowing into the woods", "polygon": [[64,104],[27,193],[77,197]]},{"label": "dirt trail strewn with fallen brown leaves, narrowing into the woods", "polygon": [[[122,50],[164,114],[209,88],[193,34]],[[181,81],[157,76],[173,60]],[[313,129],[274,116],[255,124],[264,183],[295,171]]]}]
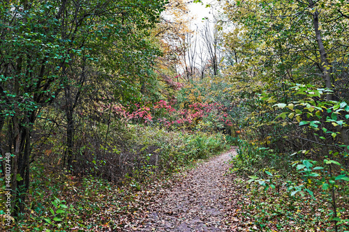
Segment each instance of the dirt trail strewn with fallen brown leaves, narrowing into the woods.
[{"label": "dirt trail strewn with fallen brown leaves, narrowing into the woods", "polygon": [[181,181],[161,190],[133,231],[232,231],[228,215],[236,196],[230,192],[232,177],[225,173],[235,153],[233,148],[181,173]]}]

